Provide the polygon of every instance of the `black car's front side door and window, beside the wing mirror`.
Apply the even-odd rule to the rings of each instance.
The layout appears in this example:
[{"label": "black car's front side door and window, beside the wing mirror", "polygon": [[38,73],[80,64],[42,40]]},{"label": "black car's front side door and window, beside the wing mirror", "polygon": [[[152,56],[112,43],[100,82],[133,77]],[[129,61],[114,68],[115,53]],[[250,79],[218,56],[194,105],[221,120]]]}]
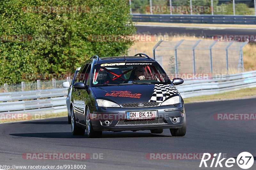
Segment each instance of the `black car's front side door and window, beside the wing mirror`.
[{"label": "black car's front side door and window, beside the wing mirror", "polygon": [[[91,77],[91,70],[92,70],[92,65],[91,63],[88,64],[87,70],[85,71],[85,76],[84,76],[84,84],[85,85],[89,85],[90,82],[90,77]],[[81,112],[80,115],[80,123],[85,124],[85,100],[89,98],[89,94],[86,90],[80,90],[80,95],[79,95],[79,103],[81,103],[81,111],[83,110],[83,112]]]}]

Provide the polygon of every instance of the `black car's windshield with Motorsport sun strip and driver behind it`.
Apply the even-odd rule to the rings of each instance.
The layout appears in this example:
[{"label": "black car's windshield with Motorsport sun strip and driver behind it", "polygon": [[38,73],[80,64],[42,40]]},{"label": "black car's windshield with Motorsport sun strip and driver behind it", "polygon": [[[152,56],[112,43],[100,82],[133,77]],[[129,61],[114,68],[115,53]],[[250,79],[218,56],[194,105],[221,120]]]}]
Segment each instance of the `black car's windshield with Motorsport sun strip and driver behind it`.
[{"label": "black car's windshield with Motorsport sun strip and driver behind it", "polygon": [[96,64],[92,85],[171,84],[170,78],[156,62]]}]

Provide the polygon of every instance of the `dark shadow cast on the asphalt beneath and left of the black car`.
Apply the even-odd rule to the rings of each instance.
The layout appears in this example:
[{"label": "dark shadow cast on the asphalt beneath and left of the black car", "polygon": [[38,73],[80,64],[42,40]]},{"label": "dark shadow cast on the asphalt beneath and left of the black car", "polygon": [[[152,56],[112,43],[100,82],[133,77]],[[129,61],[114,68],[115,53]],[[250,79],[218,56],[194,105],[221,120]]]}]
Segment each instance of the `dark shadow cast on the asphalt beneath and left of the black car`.
[{"label": "dark shadow cast on the asphalt beneath and left of the black car", "polygon": [[[10,134],[17,137],[41,137],[41,138],[88,138],[85,132],[83,136],[74,136],[71,132],[49,132],[49,133],[15,133]],[[126,137],[170,137],[143,132],[103,132],[101,138],[126,138]]]}]

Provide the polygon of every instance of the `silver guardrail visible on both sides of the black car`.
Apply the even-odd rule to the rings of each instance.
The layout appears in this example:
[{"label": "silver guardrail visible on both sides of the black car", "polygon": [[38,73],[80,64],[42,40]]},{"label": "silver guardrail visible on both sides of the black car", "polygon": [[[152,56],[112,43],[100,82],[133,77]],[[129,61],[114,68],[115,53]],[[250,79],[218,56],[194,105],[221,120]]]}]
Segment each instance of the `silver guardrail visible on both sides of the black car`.
[{"label": "silver guardrail visible on both sides of the black car", "polygon": [[[184,80],[176,87],[183,98],[256,87],[256,71],[228,75],[221,80]],[[64,112],[66,96],[66,88],[0,93],[0,113]]]}]

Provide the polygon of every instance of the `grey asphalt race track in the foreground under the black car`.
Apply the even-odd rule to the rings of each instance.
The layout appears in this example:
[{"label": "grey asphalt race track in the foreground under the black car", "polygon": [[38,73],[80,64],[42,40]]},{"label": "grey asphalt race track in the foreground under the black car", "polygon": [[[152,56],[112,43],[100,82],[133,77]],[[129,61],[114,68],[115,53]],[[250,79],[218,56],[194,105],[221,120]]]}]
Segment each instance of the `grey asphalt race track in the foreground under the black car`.
[{"label": "grey asphalt race track in the foreground under the black car", "polygon": [[[241,152],[256,156],[255,120],[214,120],[215,113],[255,113],[256,99],[185,104],[187,134],[172,137],[150,131],[103,132],[102,138],[73,136],[67,118],[0,124],[0,165],[86,165],[86,169],[212,169],[199,168],[200,160],[149,160],[147,153]],[[23,153],[103,153],[103,159],[27,160]],[[92,157],[91,157],[92,158]],[[215,159],[216,161],[216,159]],[[211,162],[208,162],[210,166]],[[232,168],[240,169],[235,163]],[[215,164],[214,164],[215,165]],[[250,168],[256,169],[256,163]]]}]

